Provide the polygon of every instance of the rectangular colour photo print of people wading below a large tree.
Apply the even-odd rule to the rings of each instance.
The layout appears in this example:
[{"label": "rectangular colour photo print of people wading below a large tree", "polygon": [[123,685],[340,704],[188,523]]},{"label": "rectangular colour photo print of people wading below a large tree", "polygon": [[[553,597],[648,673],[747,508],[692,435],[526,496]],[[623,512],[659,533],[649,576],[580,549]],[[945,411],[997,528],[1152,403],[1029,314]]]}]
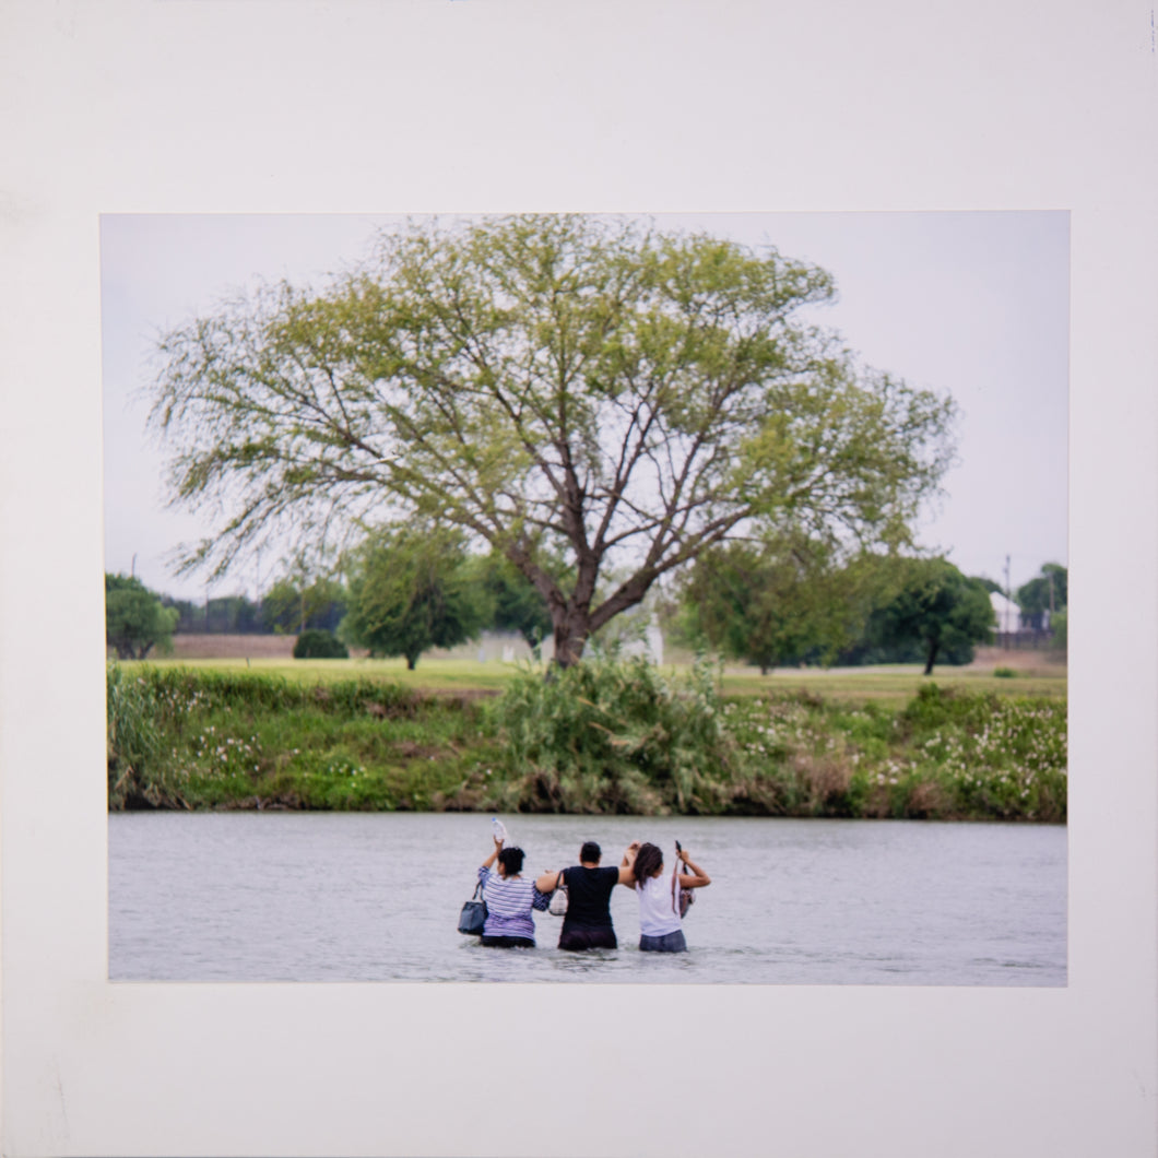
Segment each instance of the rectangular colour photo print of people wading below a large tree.
[{"label": "rectangular colour photo print of people wading below a large tree", "polygon": [[1068,236],[105,218],[110,977],[1064,984]]}]

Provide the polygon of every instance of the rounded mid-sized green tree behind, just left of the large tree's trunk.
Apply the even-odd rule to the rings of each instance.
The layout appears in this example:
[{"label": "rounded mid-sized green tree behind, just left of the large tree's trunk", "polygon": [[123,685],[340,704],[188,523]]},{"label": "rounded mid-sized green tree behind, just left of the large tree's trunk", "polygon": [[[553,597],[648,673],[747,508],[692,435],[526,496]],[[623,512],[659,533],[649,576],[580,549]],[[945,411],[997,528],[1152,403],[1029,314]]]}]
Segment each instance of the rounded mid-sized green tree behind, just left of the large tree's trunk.
[{"label": "rounded mid-sized green tree behind, just left of the large tree's trunk", "polygon": [[412,670],[424,651],[475,638],[486,610],[461,535],[387,528],[353,559],[340,635],[372,655],[404,655]]}]

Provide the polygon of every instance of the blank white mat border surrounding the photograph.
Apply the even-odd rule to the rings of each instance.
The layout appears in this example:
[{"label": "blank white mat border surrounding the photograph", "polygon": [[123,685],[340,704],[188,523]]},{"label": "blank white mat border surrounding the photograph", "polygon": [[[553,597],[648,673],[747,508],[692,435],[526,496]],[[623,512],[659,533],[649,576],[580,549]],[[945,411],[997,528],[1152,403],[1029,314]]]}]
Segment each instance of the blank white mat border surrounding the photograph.
[{"label": "blank white mat border surrounding the photograph", "polygon": [[[1153,1153],[1145,3],[0,20],[5,1155]],[[1067,989],[104,980],[98,214],[522,208],[1071,211]]]}]

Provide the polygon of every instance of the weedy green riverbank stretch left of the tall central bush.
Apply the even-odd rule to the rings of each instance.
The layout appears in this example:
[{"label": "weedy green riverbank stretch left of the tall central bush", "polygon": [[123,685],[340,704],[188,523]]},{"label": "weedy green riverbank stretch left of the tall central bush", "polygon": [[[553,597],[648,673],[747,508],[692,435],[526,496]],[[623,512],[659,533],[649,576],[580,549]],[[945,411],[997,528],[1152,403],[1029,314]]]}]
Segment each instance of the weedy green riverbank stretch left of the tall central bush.
[{"label": "weedy green riverbank stretch left of the tall central bush", "polygon": [[110,665],[109,686],[110,808],[462,807],[493,747],[474,703],[376,680]]}]

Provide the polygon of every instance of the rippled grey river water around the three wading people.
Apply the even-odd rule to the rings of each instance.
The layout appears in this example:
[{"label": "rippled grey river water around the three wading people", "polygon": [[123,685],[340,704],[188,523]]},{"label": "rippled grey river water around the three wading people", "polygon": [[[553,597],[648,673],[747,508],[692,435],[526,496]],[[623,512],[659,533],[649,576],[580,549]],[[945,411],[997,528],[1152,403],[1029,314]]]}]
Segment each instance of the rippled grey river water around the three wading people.
[{"label": "rippled grey river water around the three wading people", "polygon": [[[690,952],[534,951],[456,931],[491,849],[486,816],[120,813],[109,818],[109,976],[132,981],[599,981],[1064,985],[1065,829],[914,821],[507,816],[525,873],[585,840],[682,842],[712,884]],[[667,860],[670,866],[670,859]]]}]

